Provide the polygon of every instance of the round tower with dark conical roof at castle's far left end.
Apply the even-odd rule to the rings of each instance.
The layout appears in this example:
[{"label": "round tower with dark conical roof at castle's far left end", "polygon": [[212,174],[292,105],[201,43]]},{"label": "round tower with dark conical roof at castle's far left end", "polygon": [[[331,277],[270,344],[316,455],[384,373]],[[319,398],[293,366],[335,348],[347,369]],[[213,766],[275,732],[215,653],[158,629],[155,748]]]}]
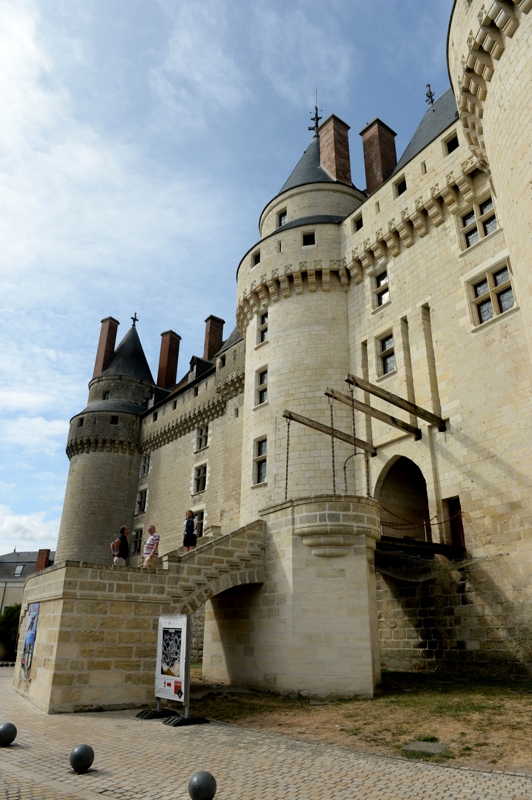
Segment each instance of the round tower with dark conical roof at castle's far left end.
[{"label": "round tower with dark conical roof at castle's far left end", "polygon": [[70,421],[56,563],[109,563],[110,542],[133,524],[141,415],[154,389],[135,321],[115,351],[118,322],[102,320],[88,404]]}]

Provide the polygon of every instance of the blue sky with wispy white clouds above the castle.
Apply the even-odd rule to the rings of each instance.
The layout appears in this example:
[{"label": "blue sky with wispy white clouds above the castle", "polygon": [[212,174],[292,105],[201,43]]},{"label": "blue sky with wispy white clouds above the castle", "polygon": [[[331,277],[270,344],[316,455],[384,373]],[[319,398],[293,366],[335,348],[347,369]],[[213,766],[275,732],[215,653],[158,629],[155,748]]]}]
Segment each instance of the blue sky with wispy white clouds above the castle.
[{"label": "blue sky with wispy white clouds above the castle", "polygon": [[2,0],[0,553],[53,548],[100,320],[229,332],[235,270],[324,117],[400,154],[448,88],[452,0]]}]

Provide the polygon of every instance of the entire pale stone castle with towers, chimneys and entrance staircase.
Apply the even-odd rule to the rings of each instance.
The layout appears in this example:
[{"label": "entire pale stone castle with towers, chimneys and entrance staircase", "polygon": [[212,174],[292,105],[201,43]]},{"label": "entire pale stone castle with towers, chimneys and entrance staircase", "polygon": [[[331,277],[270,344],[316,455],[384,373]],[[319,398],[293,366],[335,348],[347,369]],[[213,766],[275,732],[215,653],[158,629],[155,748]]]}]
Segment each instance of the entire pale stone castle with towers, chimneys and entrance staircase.
[{"label": "entire pale stone castle with towers, chimneys and entrance staircase", "polygon": [[366,126],[364,191],[349,126],[316,114],[238,265],[236,328],[209,317],[178,383],[176,333],[154,380],[135,321],[115,348],[103,320],[55,564],[26,583],[16,682],[41,708],[149,702],[172,612],[204,619],[205,677],[281,692],[371,696],[381,667],[530,674],[531,10],[456,0],[452,88],[399,160]]}]

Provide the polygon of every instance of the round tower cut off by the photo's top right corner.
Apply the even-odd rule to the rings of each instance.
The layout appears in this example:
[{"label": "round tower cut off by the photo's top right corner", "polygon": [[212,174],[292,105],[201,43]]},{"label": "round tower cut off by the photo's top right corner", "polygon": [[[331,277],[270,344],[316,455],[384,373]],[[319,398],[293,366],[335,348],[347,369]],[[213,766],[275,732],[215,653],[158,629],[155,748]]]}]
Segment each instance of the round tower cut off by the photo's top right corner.
[{"label": "round tower cut off by the photo's top right corner", "polygon": [[532,354],[532,0],[455,2],[449,76],[463,132],[491,171]]}]

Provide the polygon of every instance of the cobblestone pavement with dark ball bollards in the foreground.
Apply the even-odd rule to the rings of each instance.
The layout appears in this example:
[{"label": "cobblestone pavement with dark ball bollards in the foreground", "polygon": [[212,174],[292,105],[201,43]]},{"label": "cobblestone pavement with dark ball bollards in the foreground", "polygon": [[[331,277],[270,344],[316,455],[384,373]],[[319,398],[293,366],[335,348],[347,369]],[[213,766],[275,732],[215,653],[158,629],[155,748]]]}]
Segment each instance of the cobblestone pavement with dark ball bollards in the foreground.
[{"label": "cobblestone pavement with dark ball bollards in the foreground", "polygon": [[[47,716],[0,673],[0,723],[18,728],[0,749],[0,798],[186,800],[190,777],[212,772],[216,800],[532,800],[532,775],[480,772],[375,756],[210,724],[171,728],[133,711]],[[96,758],[76,775],[81,742]]]}]

